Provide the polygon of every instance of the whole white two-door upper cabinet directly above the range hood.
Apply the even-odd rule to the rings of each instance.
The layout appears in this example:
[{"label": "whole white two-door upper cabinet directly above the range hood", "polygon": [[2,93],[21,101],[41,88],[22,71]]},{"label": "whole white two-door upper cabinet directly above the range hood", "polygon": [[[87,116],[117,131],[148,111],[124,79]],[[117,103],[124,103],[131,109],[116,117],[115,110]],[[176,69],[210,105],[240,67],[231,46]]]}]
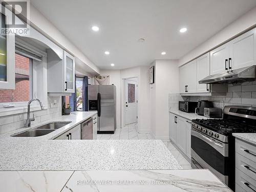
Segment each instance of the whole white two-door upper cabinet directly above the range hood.
[{"label": "whole white two-door upper cabinet directly above the range hood", "polygon": [[256,65],[256,29],[210,52],[210,75]]}]

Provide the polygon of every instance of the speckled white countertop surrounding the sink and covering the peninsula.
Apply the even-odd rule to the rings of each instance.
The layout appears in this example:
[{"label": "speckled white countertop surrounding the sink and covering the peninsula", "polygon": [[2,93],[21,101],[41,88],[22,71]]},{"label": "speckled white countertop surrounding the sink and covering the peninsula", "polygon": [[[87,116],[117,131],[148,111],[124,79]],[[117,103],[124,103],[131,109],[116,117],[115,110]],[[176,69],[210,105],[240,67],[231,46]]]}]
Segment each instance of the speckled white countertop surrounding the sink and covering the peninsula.
[{"label": "speckled white countertop surrounding the sink and covering the peninsula", "polygon": [[28,128],[1,135],[0,170],[181,168],[161,140],[53,140],[95,114],[78,112],[52,119],[72,122],[45,136],[10,136]]}]

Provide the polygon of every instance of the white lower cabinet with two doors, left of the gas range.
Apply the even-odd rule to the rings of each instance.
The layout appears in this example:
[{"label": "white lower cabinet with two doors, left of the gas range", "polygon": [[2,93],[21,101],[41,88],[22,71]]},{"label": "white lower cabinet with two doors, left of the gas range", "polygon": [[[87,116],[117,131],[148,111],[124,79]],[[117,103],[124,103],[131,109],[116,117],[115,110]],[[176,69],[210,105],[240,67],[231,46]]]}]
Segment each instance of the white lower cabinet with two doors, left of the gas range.
[{"label": "white lower cabinet with two doors, left of the gas range", "polygon": [[190,160],[191,122],[183,117],[169,113],[169,138]]}]

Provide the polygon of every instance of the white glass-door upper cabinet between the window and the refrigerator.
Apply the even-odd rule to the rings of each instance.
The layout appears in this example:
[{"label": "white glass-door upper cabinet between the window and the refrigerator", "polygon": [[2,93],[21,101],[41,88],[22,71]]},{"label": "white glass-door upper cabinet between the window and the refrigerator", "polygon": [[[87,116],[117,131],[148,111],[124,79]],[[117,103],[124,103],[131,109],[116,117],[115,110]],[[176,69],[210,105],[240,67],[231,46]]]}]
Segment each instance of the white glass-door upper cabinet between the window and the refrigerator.
[{"label": "white glass-door upper cabinet between the window and the refrigerator", "polygon": [[75,58],[63,51],[63,60],[52,50],[47,50],[48,93],[75,92]]}]

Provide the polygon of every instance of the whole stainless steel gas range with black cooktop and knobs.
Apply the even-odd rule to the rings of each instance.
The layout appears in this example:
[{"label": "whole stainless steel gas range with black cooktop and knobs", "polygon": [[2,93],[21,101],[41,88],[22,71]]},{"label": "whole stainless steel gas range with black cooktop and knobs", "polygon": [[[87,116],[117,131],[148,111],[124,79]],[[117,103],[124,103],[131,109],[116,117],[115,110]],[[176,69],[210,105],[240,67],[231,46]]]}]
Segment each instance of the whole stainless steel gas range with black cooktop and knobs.
[{"label": "whole stainless steel gas range with black cooktop and knobs", "polygon": [[256,133],[256,108],[225,106],[223,119],[191,122],[191,166],[210,169],[234,189],[235,138],[232,133]]}]

